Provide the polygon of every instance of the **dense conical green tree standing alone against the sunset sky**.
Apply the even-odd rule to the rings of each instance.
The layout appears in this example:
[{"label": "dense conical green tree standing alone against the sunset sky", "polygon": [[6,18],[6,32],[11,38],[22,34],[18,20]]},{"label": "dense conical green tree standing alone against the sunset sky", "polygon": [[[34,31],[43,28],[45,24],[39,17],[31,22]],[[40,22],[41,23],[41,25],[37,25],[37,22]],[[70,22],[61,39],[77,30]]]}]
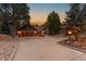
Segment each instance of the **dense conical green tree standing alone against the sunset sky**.
[{"label": "dense conical green tree standing alone against the sunset sky", "polygon": [[61,23],[60,23],[60,17],[58,13],[52,11],[48,15],[47,22],[48,22],[47,28],[48,28],[49,35],[57,35],[60,33]]}]

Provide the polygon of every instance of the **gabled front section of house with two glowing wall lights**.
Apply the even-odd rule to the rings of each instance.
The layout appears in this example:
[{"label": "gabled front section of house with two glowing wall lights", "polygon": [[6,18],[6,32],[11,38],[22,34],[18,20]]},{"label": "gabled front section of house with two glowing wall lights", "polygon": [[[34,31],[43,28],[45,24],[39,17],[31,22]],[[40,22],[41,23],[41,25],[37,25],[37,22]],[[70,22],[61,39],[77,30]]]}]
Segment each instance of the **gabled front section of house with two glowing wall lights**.
[{"label": "gabled front section of house with two glowing wall lights", "polygon": [[17,30],[19,37],[37,36],[37,29],[32,25],[24,25]]}]

